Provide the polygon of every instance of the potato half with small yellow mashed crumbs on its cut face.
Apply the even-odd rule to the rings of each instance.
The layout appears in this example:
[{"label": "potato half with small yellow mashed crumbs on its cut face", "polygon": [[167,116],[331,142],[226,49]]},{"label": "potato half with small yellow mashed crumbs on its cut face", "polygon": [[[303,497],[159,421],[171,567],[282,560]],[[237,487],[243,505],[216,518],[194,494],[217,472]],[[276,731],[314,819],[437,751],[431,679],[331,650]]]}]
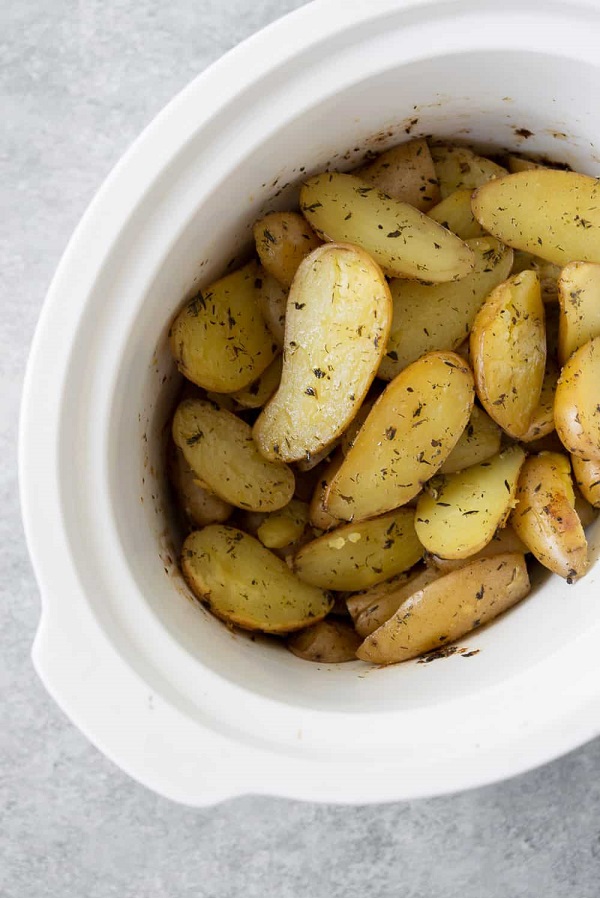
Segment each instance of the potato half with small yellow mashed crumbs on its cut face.
[{"label": "potato half with small yellow mashed crumbs on its cut face", "polygon": [[414,513],[399,508],[359,524],[345,524],[303,546],[294,572],[323,589],[366,589],[412,567],[422,557]]}]

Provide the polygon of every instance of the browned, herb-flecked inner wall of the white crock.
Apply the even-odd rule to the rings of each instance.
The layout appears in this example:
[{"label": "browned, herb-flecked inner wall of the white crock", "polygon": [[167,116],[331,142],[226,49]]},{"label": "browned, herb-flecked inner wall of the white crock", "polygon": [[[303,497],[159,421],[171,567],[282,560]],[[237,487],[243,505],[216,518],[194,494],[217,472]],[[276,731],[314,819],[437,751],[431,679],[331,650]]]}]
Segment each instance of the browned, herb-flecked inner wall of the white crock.
[{"label": "browned, herb-flecked inner wall of the white crock", "polygon": [[[547,657],[597,619],[586,580],[569,587],[551,577],[493,626],[461,642],[480,650],[468,661],[455,656],[372,671],[359,662],[324,667],[299,661],[273,640],[231,633],[190,601],[177,572],[162,446],[180,383],[166,340],[174,311],[184,295],[243,253],[261,211],[294,201],[304,171],[349,168],[367,149],[435,135],[546,154],[600,174],[594,99],[599,80],[597,70],[585,64],[542,54],[471,53],[414,62],[308,109],[259,150],[232,154],[228,176],[157,267],[123,358],[111,438],[113,505],[131,572],[171,639],[200,664],[286,703],[324,710],[401,709],[497,683]],[[531,136],[520,136],[524,128]],[[201,159],[199,151],[197,163],[190,162],[185,172],[191,185]]]}]

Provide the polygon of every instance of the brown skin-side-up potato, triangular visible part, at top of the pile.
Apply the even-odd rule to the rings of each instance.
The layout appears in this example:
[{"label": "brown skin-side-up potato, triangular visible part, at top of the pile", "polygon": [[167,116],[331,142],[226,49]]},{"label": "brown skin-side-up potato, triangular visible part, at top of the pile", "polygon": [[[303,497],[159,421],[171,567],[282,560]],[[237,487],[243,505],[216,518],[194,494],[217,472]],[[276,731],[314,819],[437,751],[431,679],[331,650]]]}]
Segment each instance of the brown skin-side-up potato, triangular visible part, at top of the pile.
[{"label": "brown skin-side-up potato, triangular visible part, at top of the pile", "polygon": [[386,150],[354,174],[415,209],[427,212],[440,199],[433,159],[426,140],[411,140]]}]

